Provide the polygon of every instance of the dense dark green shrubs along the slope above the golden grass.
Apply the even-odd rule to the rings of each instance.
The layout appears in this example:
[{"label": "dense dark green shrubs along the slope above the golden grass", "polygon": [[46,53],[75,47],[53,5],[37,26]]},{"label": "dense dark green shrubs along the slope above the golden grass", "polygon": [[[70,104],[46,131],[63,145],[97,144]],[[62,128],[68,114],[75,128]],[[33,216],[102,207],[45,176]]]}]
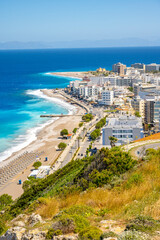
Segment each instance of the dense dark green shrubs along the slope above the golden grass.
[{"label": "dense dark green shrubs along the slope above the golden grass", "polygon": [[118,147],[111,150],[102,148],[96,155],[71,161],[62,169],[36,182],[11,206],[10,214],[16,216],[44,194],[65,195],[90,187],[102,187],[135,164],[132,157]]}]

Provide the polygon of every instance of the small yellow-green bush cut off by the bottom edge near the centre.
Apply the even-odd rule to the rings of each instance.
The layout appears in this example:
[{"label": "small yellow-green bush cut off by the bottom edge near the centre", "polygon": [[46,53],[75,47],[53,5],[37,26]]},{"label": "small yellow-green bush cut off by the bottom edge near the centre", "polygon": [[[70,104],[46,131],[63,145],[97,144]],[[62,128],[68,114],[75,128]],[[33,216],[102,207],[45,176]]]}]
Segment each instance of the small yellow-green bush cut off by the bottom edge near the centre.
[{"label": "small yellow-green bush cut off by the bottom edge near the centre", "polygon": [[99,240],[102,231],[96,227],[89,227],[79,233],[80,240]]}]

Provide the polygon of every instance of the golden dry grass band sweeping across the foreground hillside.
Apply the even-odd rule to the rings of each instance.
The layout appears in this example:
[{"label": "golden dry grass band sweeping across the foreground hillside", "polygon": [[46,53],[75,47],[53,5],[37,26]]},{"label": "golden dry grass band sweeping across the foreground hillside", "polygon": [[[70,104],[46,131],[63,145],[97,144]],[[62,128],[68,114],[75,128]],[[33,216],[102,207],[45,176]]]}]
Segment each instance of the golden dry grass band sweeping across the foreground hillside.
[{"label": "golden dry grass band sweeping across the foreground hillside", "polygon": [[[97,188],[81,194],[68,195],[65,199],[50,198],[42,203],[37,212],[43,218],[51,218],[58,211],[73,205],[88,205],[95,210],[108,209],[110,217],[122,219],[138,214],[160,218],[160,158],[154,157],[144,163],[133,174],[141,174],[143,181],[132,183],[128,188],[127,181],[112,190]],[[126,209],[129,209],[126,210]]]}]

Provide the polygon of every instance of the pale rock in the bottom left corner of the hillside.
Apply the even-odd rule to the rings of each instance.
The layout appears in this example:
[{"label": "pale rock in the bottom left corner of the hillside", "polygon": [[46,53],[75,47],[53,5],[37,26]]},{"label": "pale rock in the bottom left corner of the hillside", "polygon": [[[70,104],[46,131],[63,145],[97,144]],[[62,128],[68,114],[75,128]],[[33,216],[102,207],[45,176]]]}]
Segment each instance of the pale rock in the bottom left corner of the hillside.
[{"label": "pale rock in the bottom left corner of the hillside", "polygon": [[26,229],[22,227],[13,227],[0,237],[0,240],[21,240]]}]

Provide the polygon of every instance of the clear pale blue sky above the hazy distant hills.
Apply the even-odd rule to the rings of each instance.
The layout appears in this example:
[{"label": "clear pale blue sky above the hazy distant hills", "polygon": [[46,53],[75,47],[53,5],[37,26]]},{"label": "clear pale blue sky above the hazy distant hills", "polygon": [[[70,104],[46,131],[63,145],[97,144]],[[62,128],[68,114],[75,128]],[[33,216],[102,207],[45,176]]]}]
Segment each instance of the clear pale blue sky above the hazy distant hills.
[{"label": "clear pale blue sky above the hazy distant hills", "polygon": [[160,39],[160,0],[0,0],[0,41]]}]

